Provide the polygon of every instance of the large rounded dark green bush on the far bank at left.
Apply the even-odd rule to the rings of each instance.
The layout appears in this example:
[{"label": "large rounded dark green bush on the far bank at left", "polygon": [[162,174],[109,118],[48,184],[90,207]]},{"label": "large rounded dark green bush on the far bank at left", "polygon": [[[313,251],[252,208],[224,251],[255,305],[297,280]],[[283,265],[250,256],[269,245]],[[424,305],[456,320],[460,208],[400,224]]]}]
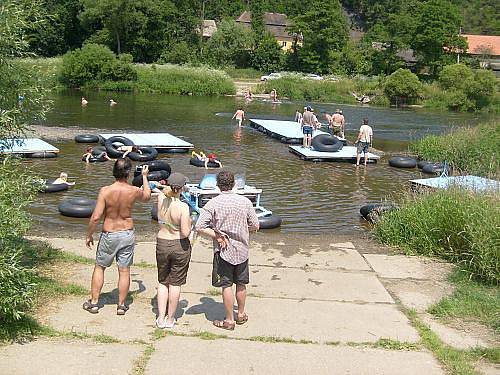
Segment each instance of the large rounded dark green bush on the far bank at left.
[{"label": "large rounded dark green bush on the far bank at left", "polygon": [[63,56],[61,80],[70,87],[81,87],[92,81],[134,81],[137,72],[130,55],[117,58],[106,46],[86,44]]}]

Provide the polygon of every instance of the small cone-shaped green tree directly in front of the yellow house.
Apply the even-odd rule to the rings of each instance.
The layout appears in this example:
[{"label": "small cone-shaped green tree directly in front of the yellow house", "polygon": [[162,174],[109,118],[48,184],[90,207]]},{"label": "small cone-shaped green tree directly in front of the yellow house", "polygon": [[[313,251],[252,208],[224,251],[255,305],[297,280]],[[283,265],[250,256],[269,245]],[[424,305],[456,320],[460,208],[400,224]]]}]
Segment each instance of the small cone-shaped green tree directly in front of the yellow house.
[{"label": "small cone-shaped green tree directly in front of the yellow house", "polygon": [[265,33],[251,52],[250,62],[255,69],[263,72],[276,72],[282,69],[284,57],[276,39],[271,34]]}]

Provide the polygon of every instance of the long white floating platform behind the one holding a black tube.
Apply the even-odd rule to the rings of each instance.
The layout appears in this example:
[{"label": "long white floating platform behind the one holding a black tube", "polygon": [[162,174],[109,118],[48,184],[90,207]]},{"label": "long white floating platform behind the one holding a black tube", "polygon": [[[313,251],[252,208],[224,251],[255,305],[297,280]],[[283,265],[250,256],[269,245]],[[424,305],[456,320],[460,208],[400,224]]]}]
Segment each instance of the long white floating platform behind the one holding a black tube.
[{"label": "long white floating platform behind the one holding a black tube", "polygon": [[[252,128],[272,138],[276,138],[282,143],[302,144],[304,135],[298,122],[259,119],[250,119],[249,121]],[[319,134],[328,133],[321,130],[314,130],[313,137]],[[344,141],[342,138],[340,140]]]}]

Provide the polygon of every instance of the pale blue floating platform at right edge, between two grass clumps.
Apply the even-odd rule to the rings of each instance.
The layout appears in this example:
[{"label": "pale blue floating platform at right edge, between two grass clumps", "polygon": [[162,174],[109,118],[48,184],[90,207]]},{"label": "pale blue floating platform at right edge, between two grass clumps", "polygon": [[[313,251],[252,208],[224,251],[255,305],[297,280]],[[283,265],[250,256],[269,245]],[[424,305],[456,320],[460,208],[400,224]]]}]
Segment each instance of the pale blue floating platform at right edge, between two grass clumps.
[{"label": "pale blue floating platform at right edge, between two grass clumps", "polygon": [[447,176],[410,180],[412,188],[448,189],[460,187],[479,192],[498,192],[500,183],[478,176]]}]

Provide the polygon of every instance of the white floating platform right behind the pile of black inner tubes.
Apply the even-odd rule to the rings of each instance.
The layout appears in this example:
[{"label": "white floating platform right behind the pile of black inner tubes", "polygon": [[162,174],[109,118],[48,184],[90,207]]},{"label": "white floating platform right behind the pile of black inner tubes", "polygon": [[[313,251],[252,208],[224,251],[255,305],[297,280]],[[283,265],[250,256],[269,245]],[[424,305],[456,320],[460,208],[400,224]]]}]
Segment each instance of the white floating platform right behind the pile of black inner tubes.
[{"label": "white floating platform right behind the pile of black inner tubes", "polygon": [[169,133],[107,133],[99,134],[104,140],[114,137],[122,136],[130,139],[136,146],[139,147],[154,147],[158,152],[169,150],[192,150],[194,145],[186,142]]}]

